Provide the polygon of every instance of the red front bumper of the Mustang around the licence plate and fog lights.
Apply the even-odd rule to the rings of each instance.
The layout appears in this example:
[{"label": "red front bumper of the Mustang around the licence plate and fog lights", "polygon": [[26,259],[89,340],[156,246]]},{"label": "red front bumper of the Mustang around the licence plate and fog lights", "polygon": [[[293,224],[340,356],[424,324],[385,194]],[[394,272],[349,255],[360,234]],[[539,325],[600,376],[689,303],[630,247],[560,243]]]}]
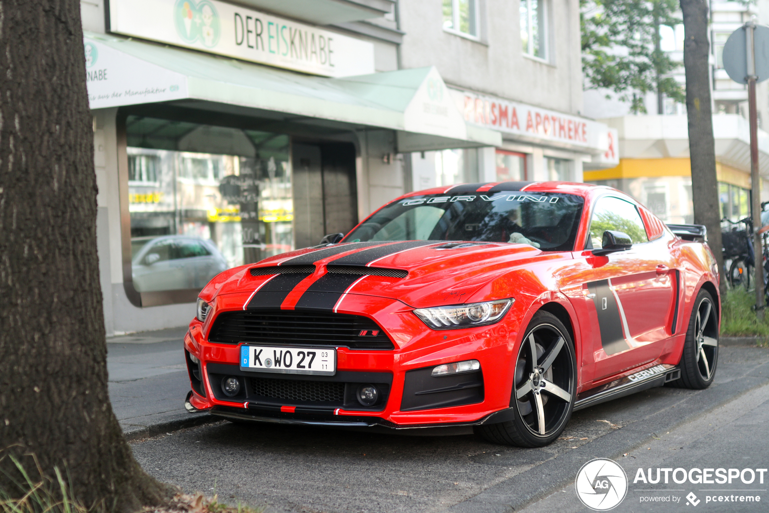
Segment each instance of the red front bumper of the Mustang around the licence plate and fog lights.
[{"label": "red front bumper of the Mustang around the licence plate and fog lights", "polygon": [[[338,347],[335,376],[241,371],[241,345],[211,343],[204,335],[210,327],[193,321],[185,336],[194,391],[188,409],[241,420],[388,429],[470,426],[488,422],[492,415],[494,421],[508,415],[513,378],[509,362],[518,335],[511,326],[518,322],[518,312],[512,309],[503,321],[491,326],[434,331],[410,310],[403,310],[402,304],[379,306],[372,308],[376,313],[371,318],[388,331],[396,347]],[[431,377],[436,365],[470,359],[481,362],[480,371]],[[241,391],[233,398],[221,391],[221,379],[229,376],[241,380]],[[305,386],[308,382],[314,385]],[[375,405],[357,403],[355,391],[361,384],[373,384],[380,390]],[[291,393],[265,397],[265,387],[291,389]],[[318,394],[325,394],[323,400],[314,400]],[[289,395],[291,399],[285,399]]]}]

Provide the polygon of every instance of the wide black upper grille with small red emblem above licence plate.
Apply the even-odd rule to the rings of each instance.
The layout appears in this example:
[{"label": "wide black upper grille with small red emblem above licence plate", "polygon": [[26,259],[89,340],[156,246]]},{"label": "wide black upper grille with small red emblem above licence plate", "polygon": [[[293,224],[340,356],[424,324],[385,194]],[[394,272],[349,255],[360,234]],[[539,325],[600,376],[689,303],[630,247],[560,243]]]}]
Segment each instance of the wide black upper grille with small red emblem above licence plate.
[{"label": "wide black upper grille with small red emblem above licence plate", "polygon": [[223,311],[215,319],[208,340],[222,344],[248,342],[325,347],[342,345],[351,349],[394,348],[388,335],[370,318],[295,310]]}]

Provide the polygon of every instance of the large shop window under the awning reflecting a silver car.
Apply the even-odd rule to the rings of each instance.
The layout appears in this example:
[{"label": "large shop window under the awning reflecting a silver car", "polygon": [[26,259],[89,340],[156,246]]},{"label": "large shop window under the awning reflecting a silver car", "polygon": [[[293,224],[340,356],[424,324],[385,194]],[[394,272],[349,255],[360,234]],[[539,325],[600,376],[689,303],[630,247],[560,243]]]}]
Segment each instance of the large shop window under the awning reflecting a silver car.
[{"label": "large shop window under the awning reflecting a silver car", "polygon": [[138,116],[126,132],[137,291],[203,288],[293,248],[287,135]]}]

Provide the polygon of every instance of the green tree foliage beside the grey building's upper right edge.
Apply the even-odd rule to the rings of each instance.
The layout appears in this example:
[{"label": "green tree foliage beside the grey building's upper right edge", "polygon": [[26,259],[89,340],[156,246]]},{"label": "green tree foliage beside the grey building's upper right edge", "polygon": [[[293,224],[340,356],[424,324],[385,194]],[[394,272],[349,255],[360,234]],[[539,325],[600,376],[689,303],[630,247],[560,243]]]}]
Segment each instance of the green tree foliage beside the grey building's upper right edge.
[{"label": "green tree foliage beside the grey building's upper right edge", "polygon": [[684,88],[664,76],[678,64],[659,45],[660,26],[681,23],[674,16],[677,9],[678,0],[580,0],[587,87],[617,93],[635,114],[646,112],[647,92],[686,102]]}]

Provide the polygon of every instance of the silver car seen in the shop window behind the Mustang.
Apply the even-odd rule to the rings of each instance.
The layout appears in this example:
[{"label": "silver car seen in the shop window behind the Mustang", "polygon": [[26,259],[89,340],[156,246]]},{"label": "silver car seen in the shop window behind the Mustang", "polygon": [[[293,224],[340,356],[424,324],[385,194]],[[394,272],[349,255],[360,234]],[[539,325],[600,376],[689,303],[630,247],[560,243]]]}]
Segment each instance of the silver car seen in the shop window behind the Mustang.
[{"label": "silver car seen in the shop window behind the Mustang", "polygon": [[213,242],[186,235],[152,238],[131,265],[134,287],[140,292],[201,289],[229,267]]}]

